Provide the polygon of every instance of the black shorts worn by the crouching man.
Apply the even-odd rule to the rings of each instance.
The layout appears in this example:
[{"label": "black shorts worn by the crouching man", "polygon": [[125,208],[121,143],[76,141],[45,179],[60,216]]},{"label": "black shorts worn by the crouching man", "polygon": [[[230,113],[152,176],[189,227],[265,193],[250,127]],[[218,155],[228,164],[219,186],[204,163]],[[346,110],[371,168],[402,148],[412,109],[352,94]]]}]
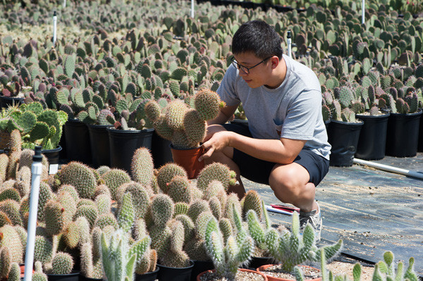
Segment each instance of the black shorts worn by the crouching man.
[{"label": "black shorts worn by the crouching man", "polygon": [[[228,131],[236,132],[245,137],[252,137],[247,125],[224,124],[223,127]],[[269,176],[276,163],[260,160],[235,148],[233,149],[232,160],[240,168],[243,177],[253,182],[269,185]],[[315,186],[319,185],[329,171],[329,160],[307,149],[302,149],[294,162],[300,164],[308,171],[310,175],[309,182],[314,183]]]}]

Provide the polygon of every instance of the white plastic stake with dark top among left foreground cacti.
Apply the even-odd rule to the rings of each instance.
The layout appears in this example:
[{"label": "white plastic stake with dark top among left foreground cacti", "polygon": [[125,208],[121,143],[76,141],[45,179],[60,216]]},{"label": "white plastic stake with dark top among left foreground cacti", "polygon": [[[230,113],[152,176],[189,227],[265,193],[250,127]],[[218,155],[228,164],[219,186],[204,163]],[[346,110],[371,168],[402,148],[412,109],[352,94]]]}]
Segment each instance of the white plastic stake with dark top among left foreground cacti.
[{"label": "white plastic stake with dark top among left foreground cacti", "polygon": [[34,263],[35,228],[37,227],[39,182],[42,173],[41,146],[35,146],[35,155],[32,157],[32,180],[30,194],[30,216],[28,218],[27,246],[25,251],[24,281],[32,281],[32,264]]}]

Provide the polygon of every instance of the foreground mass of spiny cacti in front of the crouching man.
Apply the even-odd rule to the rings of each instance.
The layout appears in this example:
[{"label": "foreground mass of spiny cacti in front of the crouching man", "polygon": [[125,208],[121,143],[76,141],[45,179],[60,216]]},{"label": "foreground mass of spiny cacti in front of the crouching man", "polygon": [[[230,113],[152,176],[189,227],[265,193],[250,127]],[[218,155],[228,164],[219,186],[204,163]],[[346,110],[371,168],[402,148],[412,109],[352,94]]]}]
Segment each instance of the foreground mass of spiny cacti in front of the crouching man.
[{"label": "foreground mass of spiny cacti in front of the crouching man", "polygon": [[[0,156],[0,272],[9,280],[18,280],[11,278],[17,278],[16,264],[23,262],[33,154],[17,146],[11,156]],[[123,170],[106,166],[94,170],[77,162],[63,166],[54,176],[44,173],[35,276],[39,280],[53,275],[78,276],[73,270],[80,266],[85,277],[132,280],[134,272],[155,271],[158,260],[159,280],[176,280],[163,275],[166,269],[195,267],[192,259],[211,260],[214,275],[232,280],[240,266],[262,252],[301,280],[296,266],[321,261],[324,268],[324,261],[341,249],[341,240],[319,249],[310,226],[300,235],[298,213],[293,214],[290,231],[272,228],[257,192],[247,192],[241,201],[235,194],[226,194],[235,177],[219,163],[204,167],[196,183],[174,163],[156,173],[145,148],[136,151],[131,176]],[[413,261],[410,259],[405,273],[398,268],[400,280],[417,278]],[[389,256],[385,263],[393,268]],[[378,265],[375,276],[396,274],[392,269],[386,271],[386,265]],[[259,270],[267,274],[266,266]],[[190,280],[189,275],[185,278]]]}]

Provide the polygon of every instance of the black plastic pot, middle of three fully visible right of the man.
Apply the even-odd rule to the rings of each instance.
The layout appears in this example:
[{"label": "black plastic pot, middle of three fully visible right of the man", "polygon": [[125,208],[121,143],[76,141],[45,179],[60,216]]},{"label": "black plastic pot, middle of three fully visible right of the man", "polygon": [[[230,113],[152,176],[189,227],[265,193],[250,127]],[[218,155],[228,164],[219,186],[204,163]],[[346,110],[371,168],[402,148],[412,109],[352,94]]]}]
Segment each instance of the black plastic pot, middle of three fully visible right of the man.
[{"label": "black plastic pot, middle of three fully visible right of the man", "polygon": [[360,131],[355,158],[379,160],[385,157],[386,130],[389,113],[384,115],[356,115],[364,124]]}]

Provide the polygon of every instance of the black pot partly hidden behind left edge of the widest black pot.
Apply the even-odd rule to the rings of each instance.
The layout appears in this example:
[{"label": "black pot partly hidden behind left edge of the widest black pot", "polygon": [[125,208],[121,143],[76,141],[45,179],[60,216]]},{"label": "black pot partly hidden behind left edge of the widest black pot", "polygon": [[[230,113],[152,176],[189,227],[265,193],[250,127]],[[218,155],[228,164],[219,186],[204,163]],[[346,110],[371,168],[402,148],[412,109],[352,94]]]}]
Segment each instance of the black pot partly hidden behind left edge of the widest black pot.
[{"label": "black pot partly hidden behind left edge of the widest black pot", "polygon": [[87,125],[90,135],[92,166],[110,166],[109,125]]}]

